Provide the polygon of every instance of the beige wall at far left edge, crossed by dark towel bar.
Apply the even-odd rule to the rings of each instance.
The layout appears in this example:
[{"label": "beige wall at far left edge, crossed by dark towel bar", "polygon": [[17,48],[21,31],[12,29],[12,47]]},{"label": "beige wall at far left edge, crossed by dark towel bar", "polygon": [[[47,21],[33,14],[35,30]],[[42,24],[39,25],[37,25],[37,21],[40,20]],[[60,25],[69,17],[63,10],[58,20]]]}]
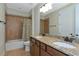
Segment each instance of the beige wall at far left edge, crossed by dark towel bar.
[{"label": "beige wall at far left edge, crossed by dark towel bar", "polygon": [[[0,3],[0,21],[5,21],[5,5]],[[0,56],[5,55],[5,24],[0,23]]]}]

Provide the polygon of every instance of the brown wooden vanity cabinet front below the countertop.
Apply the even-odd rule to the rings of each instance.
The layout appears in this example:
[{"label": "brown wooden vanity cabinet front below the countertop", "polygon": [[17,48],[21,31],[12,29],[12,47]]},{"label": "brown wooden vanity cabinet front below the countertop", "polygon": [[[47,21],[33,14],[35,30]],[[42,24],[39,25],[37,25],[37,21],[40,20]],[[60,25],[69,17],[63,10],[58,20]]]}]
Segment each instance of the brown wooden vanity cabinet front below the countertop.
[{"label": "brown wooden vanity cabinet front below the countertop", "polygon": [[50,47],[34,38],[30,39],[30,54],[31,56],[66,56],[66,54],[59,50],[54,49],[53,47]]}]

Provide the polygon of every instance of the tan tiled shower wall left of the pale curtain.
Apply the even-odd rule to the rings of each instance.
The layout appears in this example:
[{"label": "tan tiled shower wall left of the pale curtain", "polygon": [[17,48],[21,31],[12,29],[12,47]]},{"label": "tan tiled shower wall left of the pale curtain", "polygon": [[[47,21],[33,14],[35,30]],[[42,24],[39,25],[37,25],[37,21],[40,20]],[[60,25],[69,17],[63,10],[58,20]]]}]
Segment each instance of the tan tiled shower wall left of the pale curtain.
[{"label": "tan tiled shower wall left of the pale curtain", "polygon": [[6,40],[21,39],[24,18],[7,15],[6,19]]}]

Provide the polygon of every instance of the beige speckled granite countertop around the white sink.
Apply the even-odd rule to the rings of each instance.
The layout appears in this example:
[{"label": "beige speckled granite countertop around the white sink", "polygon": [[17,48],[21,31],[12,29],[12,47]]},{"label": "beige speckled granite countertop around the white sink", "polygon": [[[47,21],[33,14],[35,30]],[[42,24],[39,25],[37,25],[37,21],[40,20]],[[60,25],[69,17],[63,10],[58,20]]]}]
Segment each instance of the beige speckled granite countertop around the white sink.
[{"label": "beige speckled granite countertop around the white sink", "polygon": [[53,44],[53,42],[59,42],[59,41],[64,42],[64,40],[62,38],[59,38],[56,36],[31,36],[31,37],[49,45],[67,55],[79,56],[79,44],[78,43],[68,43],[68,44],[73,44],[76,48],[63,48],[63,47]]}]

